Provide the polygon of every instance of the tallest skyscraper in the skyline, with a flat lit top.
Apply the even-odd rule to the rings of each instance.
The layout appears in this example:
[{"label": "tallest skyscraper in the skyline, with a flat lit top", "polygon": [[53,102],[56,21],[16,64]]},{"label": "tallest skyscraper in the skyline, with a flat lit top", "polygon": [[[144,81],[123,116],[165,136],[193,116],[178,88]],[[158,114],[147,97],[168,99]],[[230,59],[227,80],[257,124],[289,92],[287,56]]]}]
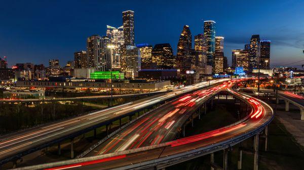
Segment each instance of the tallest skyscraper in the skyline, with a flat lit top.
[{"label": "tallest skyscraper in the skyline, with a flat lit top", "polygon": [[123,29],[125,45],[134,45],[134,11],[123,12]]}]

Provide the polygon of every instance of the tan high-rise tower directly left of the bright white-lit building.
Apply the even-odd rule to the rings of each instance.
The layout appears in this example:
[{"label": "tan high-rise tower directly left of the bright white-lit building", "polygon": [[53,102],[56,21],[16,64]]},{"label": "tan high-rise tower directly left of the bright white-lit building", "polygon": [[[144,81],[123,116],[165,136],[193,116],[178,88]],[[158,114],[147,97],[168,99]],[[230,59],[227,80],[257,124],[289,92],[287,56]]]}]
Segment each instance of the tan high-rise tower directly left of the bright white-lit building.
[{"label": "tan high-rise tower directly left of the bright white-lit building", "polygon": [[99,70],[100,40],[101,37],[99,35],[93,35],[87,38],[87,68]]}]

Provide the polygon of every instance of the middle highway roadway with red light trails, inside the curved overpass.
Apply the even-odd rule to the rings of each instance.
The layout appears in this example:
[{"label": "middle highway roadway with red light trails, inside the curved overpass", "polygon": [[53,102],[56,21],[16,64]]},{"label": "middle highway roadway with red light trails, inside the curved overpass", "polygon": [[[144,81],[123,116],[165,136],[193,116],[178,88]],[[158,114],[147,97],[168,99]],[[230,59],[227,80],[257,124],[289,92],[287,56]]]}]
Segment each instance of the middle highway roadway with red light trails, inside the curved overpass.
[{"label": "middle highway roadway with red light trails, inside the curved overpass", "polygon": [[146,115],[120,133],[104,141],[87,156],[112,153],[171,141],[177,129],[191,118],[194,111],[224,88],[232,86],[224,82],[208,89],[181,96]]}]

